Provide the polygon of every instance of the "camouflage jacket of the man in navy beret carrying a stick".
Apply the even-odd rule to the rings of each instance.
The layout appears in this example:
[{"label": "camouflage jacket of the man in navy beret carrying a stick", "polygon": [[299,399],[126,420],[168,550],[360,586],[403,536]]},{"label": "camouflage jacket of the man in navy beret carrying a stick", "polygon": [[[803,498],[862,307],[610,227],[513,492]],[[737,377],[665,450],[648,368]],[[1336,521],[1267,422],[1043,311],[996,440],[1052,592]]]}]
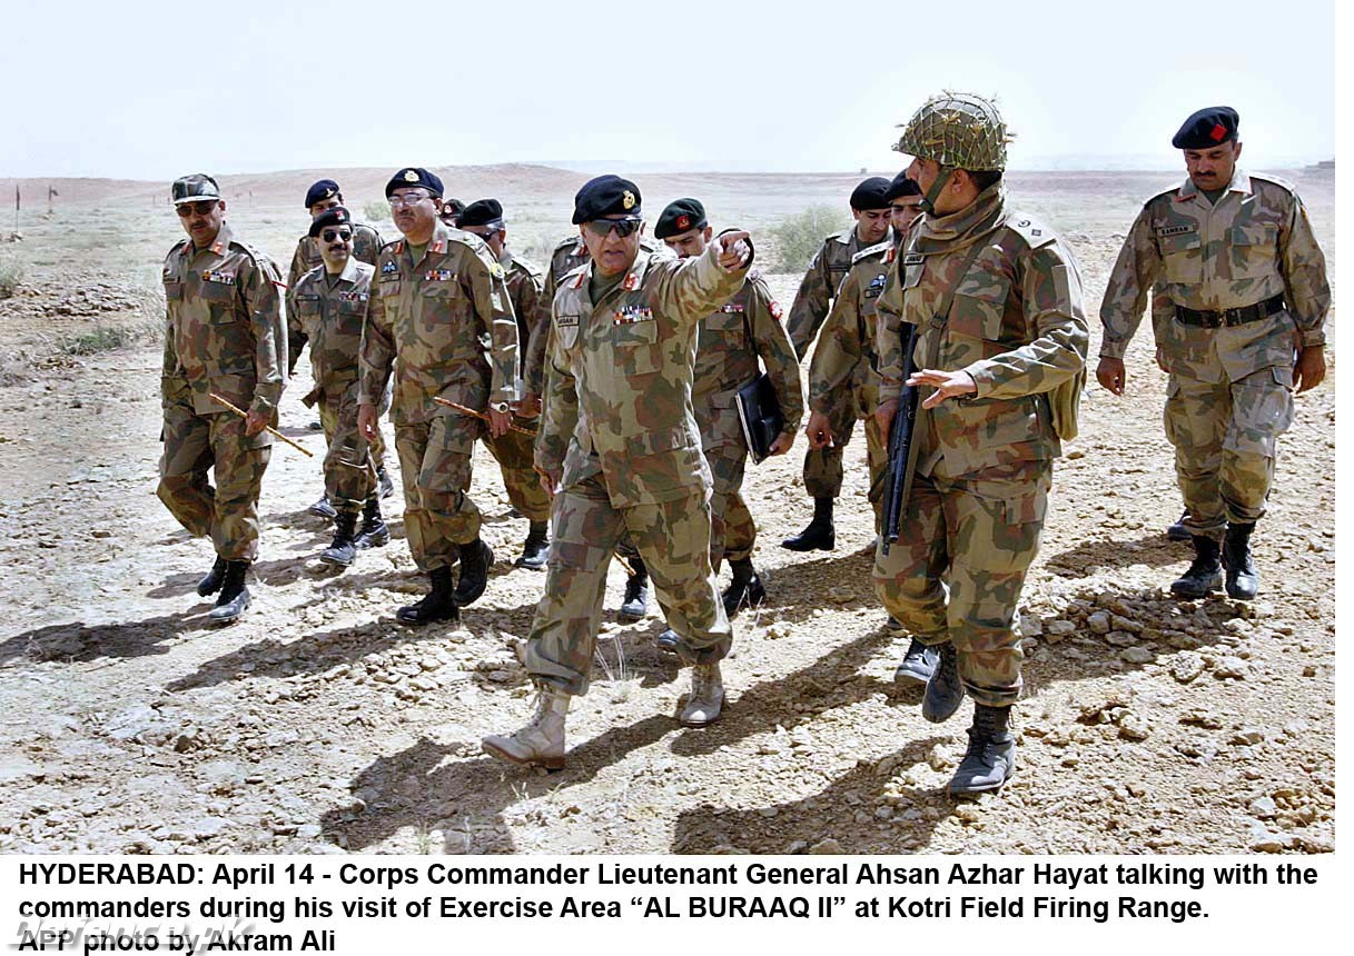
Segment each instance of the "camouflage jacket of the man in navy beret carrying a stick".
[{"label": "camouflage jacket of the man in navy beret carrying a stick", "polygon": [[517,320],[489,246],[441,222],[421,261],[408,245],[380,250],[362,337],[362,403],[380,404],[393,364],[397,425],[445,414],[432,400],[439,395],[470,408],[516,400]]}]

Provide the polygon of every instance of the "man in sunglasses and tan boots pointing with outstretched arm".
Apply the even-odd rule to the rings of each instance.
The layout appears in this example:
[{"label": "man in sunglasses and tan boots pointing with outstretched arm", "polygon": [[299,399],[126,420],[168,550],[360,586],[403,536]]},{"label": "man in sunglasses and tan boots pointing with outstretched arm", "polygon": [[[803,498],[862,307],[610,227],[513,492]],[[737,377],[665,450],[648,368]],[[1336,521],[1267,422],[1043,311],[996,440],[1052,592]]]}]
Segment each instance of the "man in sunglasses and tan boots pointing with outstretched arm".
[{"label": "man in sunglasses and tan boots pointing with outstretched arm", "polygon": [[680,719],[719,717],[719,661],[733,630],[709,567],[709,467],[692,410],[700,320],[743,285],[746,233],[726,233],[704,254],[676,261],[640,254],[639,188],[617,176],[575,197],[590,264],[566,276],[552,306],[547,396],[536,469],[554,494],[555,537],[546,594],[527,642],[536,715],[486,753],[558,768],[570,695],[588,690],[603,590],[621,529],[649,567],[677,653],[692,671]]}]

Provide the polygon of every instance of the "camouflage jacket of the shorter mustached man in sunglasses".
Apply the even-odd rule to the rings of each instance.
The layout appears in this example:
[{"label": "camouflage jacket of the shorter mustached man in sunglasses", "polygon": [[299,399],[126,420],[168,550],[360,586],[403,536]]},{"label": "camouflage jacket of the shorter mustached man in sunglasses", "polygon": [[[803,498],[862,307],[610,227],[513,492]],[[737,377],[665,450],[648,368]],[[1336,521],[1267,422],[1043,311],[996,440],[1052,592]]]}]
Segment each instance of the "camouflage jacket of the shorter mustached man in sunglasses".
[{"label": "camouflage jacket of the shorter mustached man in sunglasses", "polygon": [[356,385],[362,327],[375,274],[375,266],[351,257],[334,284],[330,285],[329,274],[320,266],[287,289],[288,315],[297,316],[310,342],[315,387],[302,399],[307,406],[317,399],[337,399]]}]

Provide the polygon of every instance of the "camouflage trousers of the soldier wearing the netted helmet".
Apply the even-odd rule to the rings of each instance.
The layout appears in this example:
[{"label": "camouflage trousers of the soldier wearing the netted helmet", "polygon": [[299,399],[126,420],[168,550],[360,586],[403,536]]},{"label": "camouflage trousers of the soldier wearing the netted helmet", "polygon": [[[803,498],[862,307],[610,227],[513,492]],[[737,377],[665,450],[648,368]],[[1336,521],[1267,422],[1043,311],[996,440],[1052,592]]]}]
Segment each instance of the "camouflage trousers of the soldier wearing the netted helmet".
[{"label": "camouflage trousers of the soldier wearing the netted helmet", "polygon": [[898,541],[875,552],[875,590],[917,640],[949,641],[964,690],[1005,707],[1021,690],[1016,604],[1039,553],[1052,464],[1022,461],[913,480]]}]

